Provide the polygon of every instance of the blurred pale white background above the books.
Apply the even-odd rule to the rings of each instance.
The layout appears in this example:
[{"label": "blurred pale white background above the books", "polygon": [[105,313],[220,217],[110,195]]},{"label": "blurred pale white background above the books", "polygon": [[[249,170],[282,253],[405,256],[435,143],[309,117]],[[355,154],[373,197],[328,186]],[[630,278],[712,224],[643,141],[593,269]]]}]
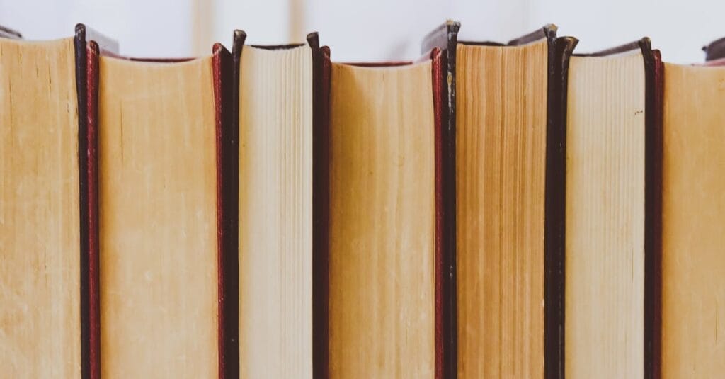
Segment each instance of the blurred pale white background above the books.
[{"label": "blurred pale white background above the books", "polygon": [[286,44],[317,30],[333,60],[411,60],[446,19],[460,39],[508,41],[546,23],[576,36],[576,52],[652,38],[664,60],[702,62],[701,47],[725,36],[724,0],[0,0],[0,25],[28,39],[99,30],[136,57],[210,54],[232,30],[249,44]]}]

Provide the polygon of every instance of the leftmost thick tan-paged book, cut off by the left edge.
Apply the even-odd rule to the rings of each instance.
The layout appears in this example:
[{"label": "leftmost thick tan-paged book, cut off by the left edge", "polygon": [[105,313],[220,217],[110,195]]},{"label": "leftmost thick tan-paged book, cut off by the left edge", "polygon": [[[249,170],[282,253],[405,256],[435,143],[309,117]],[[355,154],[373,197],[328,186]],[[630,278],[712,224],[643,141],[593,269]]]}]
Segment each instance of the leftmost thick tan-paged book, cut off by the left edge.
[{"label": "leftmost thick tan-paged book, cut off by the left edge", "polygon": [[75,38],[20,38],[0,27],[0,366],[94,378],[86,59],[99,48],[84,25]]}]

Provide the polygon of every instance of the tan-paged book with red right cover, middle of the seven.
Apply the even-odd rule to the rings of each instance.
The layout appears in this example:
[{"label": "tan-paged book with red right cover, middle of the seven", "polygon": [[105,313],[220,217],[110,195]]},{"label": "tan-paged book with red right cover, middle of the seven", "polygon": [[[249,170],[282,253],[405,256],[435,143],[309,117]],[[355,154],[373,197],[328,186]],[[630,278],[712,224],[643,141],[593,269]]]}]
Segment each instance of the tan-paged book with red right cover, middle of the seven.
[{"label": "tan-paged book with red right cover, middle of the seven", "polygon": [[441,377],[441,63],[434,49],[415,63],[331,65],[331,378]]}]

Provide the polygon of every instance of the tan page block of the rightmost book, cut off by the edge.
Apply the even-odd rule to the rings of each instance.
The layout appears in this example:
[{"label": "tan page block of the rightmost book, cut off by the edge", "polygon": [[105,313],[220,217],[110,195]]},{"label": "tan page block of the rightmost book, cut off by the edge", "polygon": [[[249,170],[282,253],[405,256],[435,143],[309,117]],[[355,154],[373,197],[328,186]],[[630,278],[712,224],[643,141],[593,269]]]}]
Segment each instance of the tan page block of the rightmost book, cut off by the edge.
[{"label": "tan page block of the rightmost book, cut off by the edge", "polygon": [[725,370],[722,83],[722,67],[664,64],[662,378]]}]

